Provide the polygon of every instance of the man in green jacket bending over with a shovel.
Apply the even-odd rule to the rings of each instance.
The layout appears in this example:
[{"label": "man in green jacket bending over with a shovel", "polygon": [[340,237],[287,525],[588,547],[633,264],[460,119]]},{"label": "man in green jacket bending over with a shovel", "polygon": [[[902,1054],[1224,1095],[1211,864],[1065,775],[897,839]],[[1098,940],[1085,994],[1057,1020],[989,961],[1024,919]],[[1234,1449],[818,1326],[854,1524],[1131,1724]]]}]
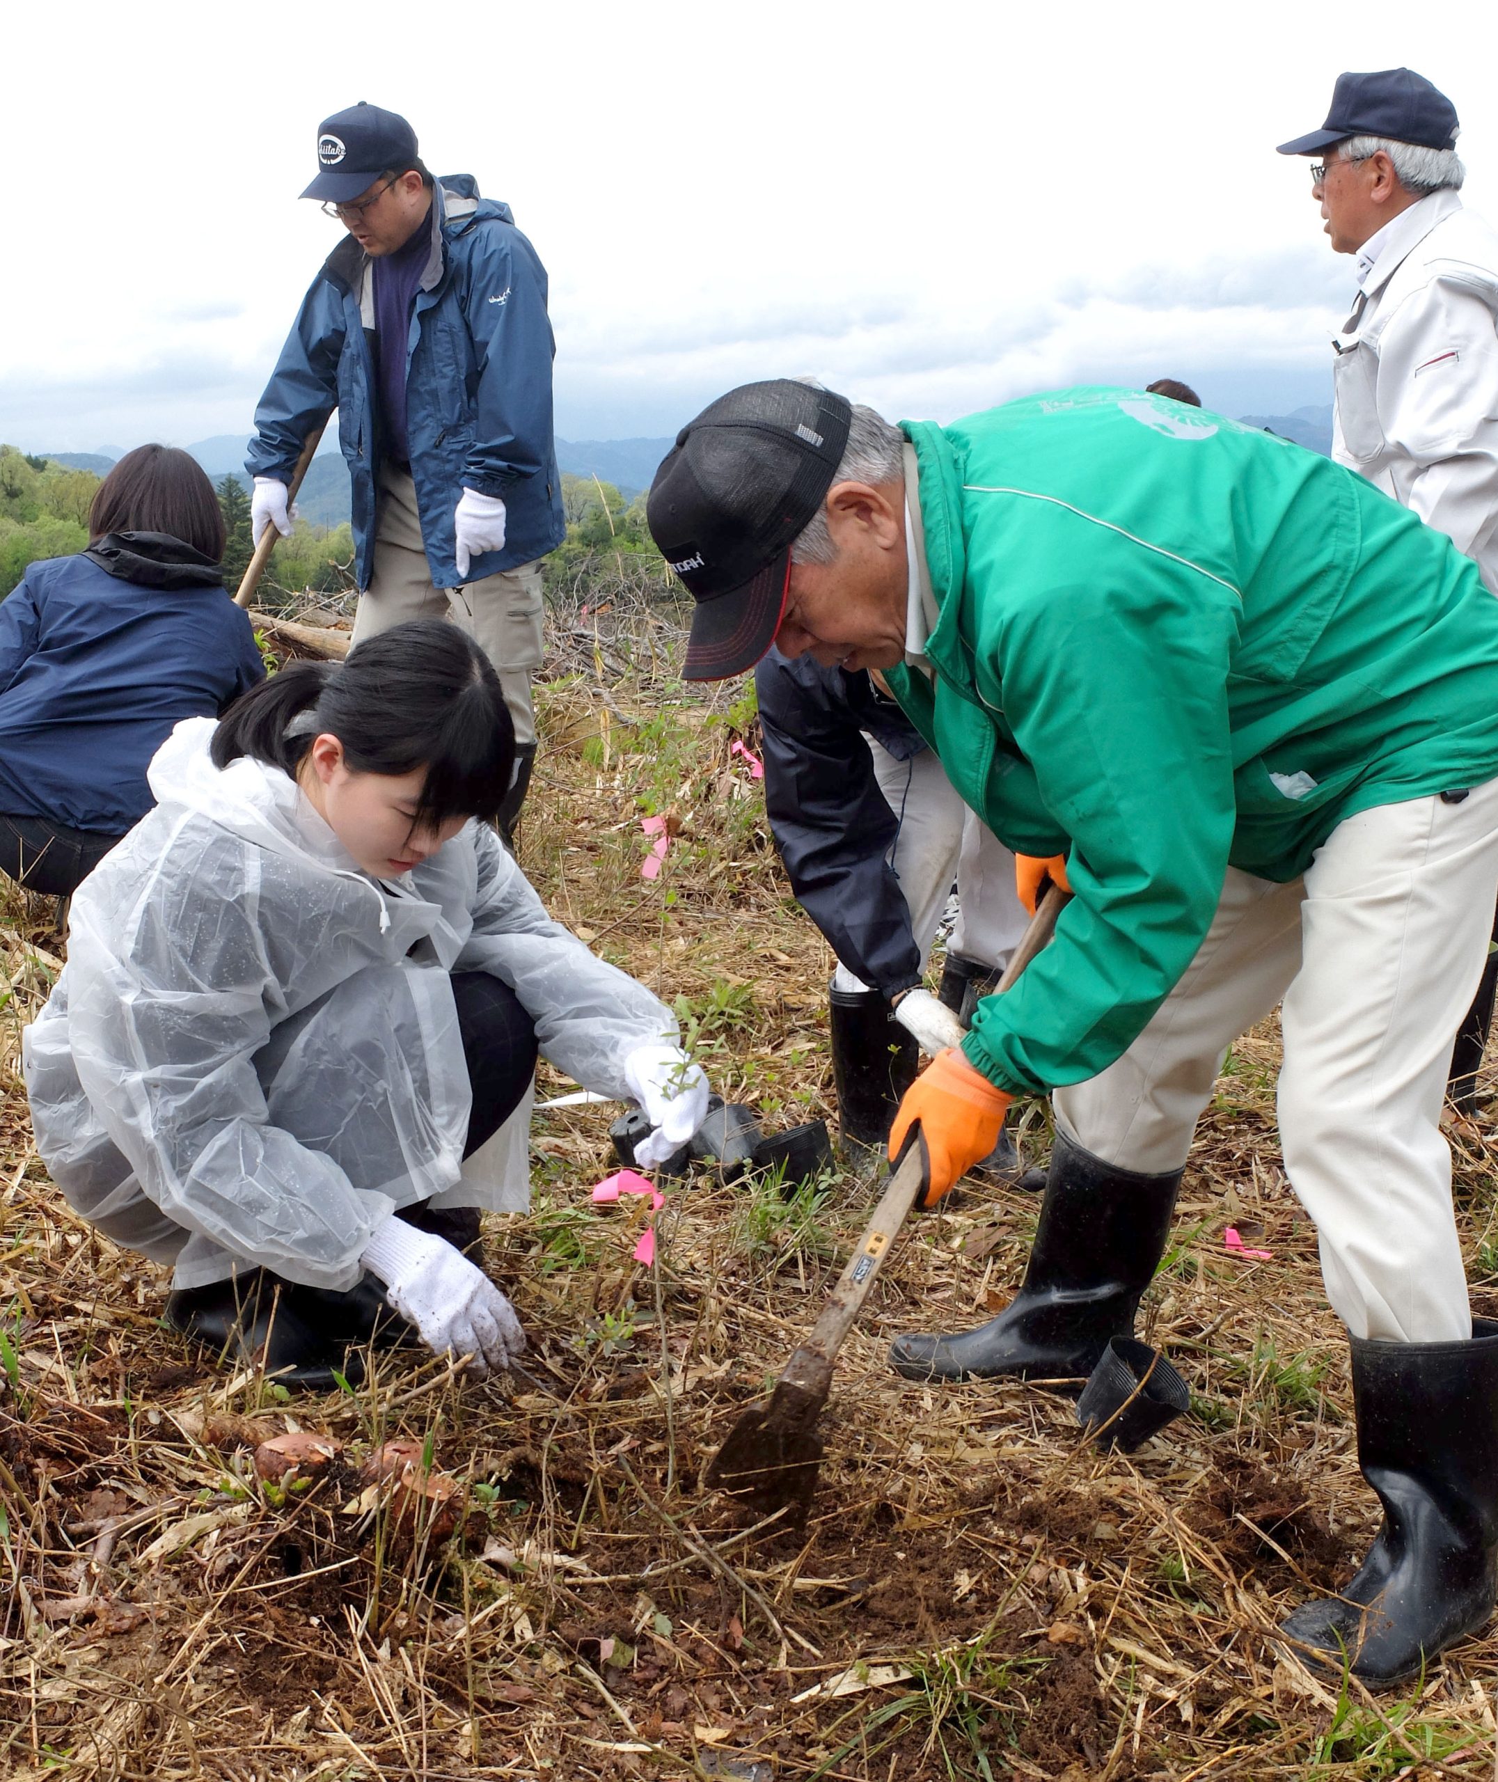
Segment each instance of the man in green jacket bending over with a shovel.
[{"label": "man in green jacket bending over with a shovel", "polygon": [[1439,1130],[1498,893],[1477,568],[1329,460],[1110,388],[896,429],[745,385],[682,429],[648,511],[698,602],[688,677],[771,640],[876,670],[989,827],[1065,859],[1054,943],[891,1135],[921,1121],[930,1205],[1054,1091],[1024,1283],[894,1365],[1087,1376],[1133,1329],[1227,1046],[1282,1001],[1284,1164],[1384,1504],[1347,1593],[1284,1631],[1414,1675],[1487,1620],[1498,1563],[1498,1324],[1471,1319]]}]

